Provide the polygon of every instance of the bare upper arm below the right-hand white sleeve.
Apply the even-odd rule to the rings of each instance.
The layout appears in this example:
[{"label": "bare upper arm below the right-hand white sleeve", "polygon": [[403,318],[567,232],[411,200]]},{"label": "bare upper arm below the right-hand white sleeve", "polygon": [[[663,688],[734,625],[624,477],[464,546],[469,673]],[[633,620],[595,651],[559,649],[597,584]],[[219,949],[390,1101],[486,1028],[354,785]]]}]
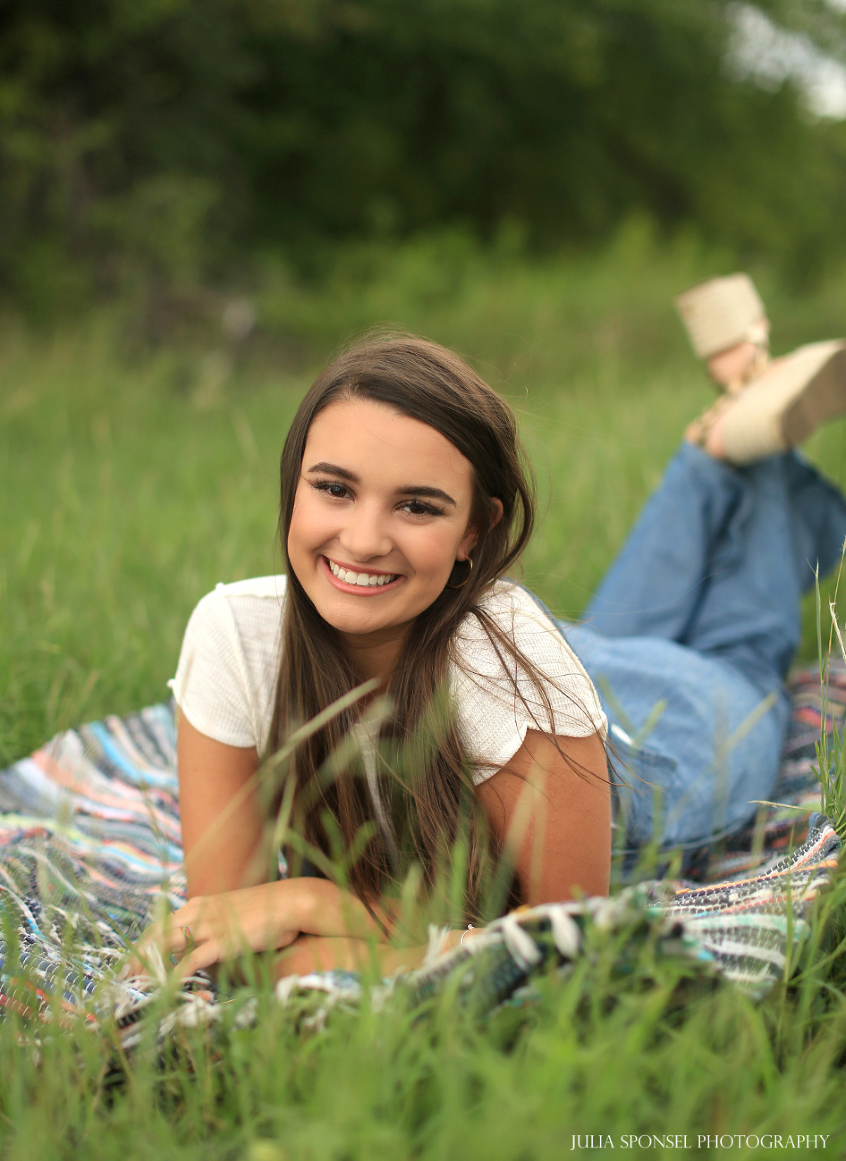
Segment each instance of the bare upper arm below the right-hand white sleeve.
[{"label": "bare upper arm below the right-hand white sleeve", "polygon": [[529,730],[508,765],[476,787],[529,904],[608,894],[610,788],[602,740],[593,734],[557,742],[562,752],[548,735]]}]

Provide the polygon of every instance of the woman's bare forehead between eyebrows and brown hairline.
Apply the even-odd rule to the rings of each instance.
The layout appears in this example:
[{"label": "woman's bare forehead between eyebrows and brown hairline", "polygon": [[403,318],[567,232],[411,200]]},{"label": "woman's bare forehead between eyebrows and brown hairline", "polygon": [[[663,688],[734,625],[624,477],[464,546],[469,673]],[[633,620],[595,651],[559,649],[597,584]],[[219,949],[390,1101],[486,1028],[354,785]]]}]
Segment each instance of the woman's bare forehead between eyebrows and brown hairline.
[{"label": "woman's bare forehead between eyebrows and brown hairline", "polygon": [[303,470],[320,461],[392,486],[472,486],[470,461],[446,435],[373,399],[339,399],[312,420]]}]

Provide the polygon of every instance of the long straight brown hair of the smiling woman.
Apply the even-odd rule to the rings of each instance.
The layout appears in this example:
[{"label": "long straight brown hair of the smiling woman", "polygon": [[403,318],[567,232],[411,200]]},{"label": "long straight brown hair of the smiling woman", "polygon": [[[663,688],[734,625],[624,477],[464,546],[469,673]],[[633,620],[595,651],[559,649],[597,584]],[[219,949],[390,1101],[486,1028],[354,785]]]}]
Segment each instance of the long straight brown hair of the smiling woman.
[{"label": "long straight brown hair of the smiling woman", "polygon": [[[494,852],[473,806],[471,769],[454,716],[448,714],[432,744],[418,750],[413,777],[404,776],[397,763],[385,757],[382,742],[390,743],[388,752],[398,753],[419,731],[427,709],[442,700],[448,666],[457,659],[456,629],[467,616],[480,622],[507,672],[516,675],[519,668],[533,679],[550,712],[549,722],[540,728],[551,731],[542,678],[484,607],[491,585],[514,565],[532,534],[534,482],[508,405],[458,355],[435,342],[413,337],[369,339],[345,351],[318,376],[294,418],[280,464],[279,532],[288,564],[288,592],[270,750],[279,749],[291,728],[314,717],[357,680],[341,635],[305,594],[287,548],[309,428],[320,411],[341,398],[370,399],[421,420],[469,460],[473,474],[470,524],[478,540],[469,575],[463,564],[454,570],[455,584],[464,583],[448,585],[415,619],[390,675],[386,693],[391,712],[381,730],[377,795],[361,777],[355,757],[340,770],[335,760],[327,776],[326,767],[332,765],[327,759],[342,751],[345,736],[361,716],[359,705],[298,748],[289,771],[295,779],[296,829],[306,843],[330,853],[338,837],[350,849],[361,828],[369,824],[370,838],[348,868],[350,886],[369,899],[402,870],[396,866],[397,843],[385,834],[385,813],[403,853],[421,865],[429,886],[440,860],[449,857],[451,844],[463,832],[468,842],[467,904],[473,913],[486,860]],[[494,499],[502,504],[502,517],[496,522]]]}]

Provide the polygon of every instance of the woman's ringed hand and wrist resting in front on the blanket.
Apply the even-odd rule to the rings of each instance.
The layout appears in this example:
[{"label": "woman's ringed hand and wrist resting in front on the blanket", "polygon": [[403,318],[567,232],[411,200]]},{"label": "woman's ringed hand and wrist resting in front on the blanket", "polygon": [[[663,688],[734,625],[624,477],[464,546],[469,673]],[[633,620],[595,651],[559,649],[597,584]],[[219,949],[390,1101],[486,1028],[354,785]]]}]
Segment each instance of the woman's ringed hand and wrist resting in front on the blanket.
[{"label": "woman's ringed hand and wrist resting in front on the blanket", "polygon": [[287,947],[308,922],[308,880],[283,879],[222,895],[197,895],[147,929],[129,971],[144,972],[145,952],[153,945],[165,962],[171,956],[180,957],[176,972],[181,976],[246,951]]}]

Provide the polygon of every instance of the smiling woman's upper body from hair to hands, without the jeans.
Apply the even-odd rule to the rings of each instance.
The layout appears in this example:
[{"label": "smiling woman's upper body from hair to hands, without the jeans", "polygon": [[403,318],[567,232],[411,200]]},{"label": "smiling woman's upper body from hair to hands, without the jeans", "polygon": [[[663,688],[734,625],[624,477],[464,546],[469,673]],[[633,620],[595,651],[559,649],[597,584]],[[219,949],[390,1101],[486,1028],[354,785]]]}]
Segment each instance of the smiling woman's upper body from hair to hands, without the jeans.
[{"label": "smiling woman's upper body from hair to hands, without the jeans", "polygon": [[[509,831],[519,897],[607,890],[605,714],[545,612],[501,579],[532,522],[514,417],[451,352],[377,340],[316,381],[282,453],[287,576],[204,598],[173,683],[190,901],[153,935],[187,951],[185,971],[244,943],[296,944],[287,971],[303,956],[344,959],[347,944],[328,940],[373,931],[412,865],[431,889],[462,832],[470,918]],[[333,834],[357,845],[352,893],[265,881],[276,859],[254,789],[261,758],[368,680],[389,699],[381,726],[362,697],[303,740],[288,771],[312,863]],[[327,777],[333,755],[345,757]]]}]

